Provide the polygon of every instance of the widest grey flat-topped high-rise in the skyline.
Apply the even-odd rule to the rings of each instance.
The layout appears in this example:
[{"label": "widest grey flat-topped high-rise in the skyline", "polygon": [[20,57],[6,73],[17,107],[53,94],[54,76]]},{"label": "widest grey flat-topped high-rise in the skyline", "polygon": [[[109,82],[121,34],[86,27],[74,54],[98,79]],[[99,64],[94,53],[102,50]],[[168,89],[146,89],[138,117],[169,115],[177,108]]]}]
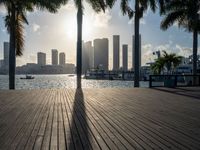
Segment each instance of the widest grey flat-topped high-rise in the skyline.
[{"label": "widest grey flat-topped high-rise in the skyline", "polygon": [[94,40],[94,67],[108,70],[108,39]]}]

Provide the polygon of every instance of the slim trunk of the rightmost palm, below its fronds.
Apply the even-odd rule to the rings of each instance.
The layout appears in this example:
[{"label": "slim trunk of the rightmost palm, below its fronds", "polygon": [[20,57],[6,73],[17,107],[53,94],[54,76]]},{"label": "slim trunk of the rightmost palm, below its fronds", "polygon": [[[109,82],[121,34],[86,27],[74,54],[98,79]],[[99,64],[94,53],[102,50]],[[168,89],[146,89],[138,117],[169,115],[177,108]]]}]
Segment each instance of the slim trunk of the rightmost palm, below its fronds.
[{"label": "slim trunk of the rightmost palm, below its fronds", "polygon": [[193,75],[197,74],[197,49],[198,49],[198,32],[193,31]]}]

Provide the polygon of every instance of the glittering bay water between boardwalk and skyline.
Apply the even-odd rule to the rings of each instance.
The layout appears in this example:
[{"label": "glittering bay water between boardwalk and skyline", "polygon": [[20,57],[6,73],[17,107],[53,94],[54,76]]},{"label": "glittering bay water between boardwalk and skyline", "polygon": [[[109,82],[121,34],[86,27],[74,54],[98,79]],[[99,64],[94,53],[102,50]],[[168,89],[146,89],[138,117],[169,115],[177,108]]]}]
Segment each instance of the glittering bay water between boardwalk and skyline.
[{"label": "glittering bay water between boardwalk and skyline", "polygon": [[[75,88],[76,77],[69,75],[34,75],[33,80],[21,80],[16,76],[16,89],[51,89]],[[133,81],[82,80],[83,88],[133,88]],[[148,82],[141,82],[141,87],[148,87]],[[0,89],[8,89],[8,76],[0,75]]]}]

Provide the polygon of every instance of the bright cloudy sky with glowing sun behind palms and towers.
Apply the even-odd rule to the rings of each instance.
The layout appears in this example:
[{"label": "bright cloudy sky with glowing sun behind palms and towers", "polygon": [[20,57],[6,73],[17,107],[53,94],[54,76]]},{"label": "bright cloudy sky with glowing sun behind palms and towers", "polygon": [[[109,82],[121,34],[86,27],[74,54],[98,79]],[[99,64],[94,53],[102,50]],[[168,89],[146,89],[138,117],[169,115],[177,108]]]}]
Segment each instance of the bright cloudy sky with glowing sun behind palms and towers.
[{"label": "bright cloudy sky with glowing sun behind palms and towers", "polygon": [[[120,51],[122,44],[128,44],[129,68],[132,64],[132,35],[134,35],[134,20],[123,16],[119,0],[112,10],[105,13],[95,13],[87,2],[84,3],[83,40],[93,41],[96,38],[109,39],[109,67],[112,68],[113,35],[120,35]],[[133,2],[132,2],[133,4]],[[62,6],[56,14],[35,10],[27,13],[29,25],[25,25],[25,50],[22,57],[17,57],[17,66],[37,62],[37,52],[47,53],[47,63],[51,63],[51,49],[65,52],[66,62],[76,61],[76,13],[72,0]],[[9,40],[4,26],[6,10],[0,6],[0,59],[3,58],[3,42]],[[179,29],[175,24],[167,31],[160,29],[162,17],[159,12],[147,10],[140,21],[142,36],[142,64],[154,61],[152,53],[166,50],[181,56],[192,54],[192,33]],[[200,43],[200,39],[199,43]],[[200,50],[200,47],[199,47]],[[122,55],[122,54],[120,54]],[[122,56],[121,56],[122,57]],[[120,58],[121,58],[120,57]],[[120,61],[122,64],[122,60]]]}]

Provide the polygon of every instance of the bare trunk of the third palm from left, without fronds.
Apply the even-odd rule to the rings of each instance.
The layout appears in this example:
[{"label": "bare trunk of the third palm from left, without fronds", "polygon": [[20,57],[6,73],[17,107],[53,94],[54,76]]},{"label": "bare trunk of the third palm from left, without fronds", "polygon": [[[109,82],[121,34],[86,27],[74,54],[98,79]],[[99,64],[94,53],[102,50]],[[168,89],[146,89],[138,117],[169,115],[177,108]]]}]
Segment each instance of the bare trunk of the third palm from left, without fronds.
[{"label": "bare trunk of the third palm from left, without fronds", "polygon": [[139,69],[139,0],[135,1],[135,55],[134,55],[134,87],[139,87],[140,69]]}]

